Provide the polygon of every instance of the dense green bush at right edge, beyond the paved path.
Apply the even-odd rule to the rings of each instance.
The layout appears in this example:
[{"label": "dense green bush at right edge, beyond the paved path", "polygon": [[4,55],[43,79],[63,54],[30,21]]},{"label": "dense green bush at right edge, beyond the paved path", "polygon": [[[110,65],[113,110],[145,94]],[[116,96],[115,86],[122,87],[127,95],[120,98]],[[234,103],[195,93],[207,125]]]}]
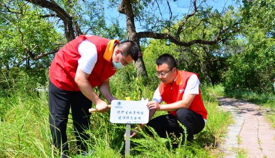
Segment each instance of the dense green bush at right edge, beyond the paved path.
[{"label": "dense green bush at right edge, beyond the paved path", "polygon": [[[255,34],[253,44],[247,45],[244,52],[228,59],[228,71],[224,75],[226,91],[235,89],[272,92],[275,76],[275,40],[261,38],[263,33]],[[257,38],[257,36],[259,38]]]}]

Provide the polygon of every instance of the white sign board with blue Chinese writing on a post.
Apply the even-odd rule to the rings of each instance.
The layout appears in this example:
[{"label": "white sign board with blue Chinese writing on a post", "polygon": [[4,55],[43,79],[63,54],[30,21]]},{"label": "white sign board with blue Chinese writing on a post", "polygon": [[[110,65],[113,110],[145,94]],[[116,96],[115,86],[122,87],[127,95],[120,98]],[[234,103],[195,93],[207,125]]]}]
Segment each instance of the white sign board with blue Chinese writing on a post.
[{"label": "white sign board with blue Chinese writing on a post", "polygon": [[148,101],[112,100],[111,123],[148,123]]}]

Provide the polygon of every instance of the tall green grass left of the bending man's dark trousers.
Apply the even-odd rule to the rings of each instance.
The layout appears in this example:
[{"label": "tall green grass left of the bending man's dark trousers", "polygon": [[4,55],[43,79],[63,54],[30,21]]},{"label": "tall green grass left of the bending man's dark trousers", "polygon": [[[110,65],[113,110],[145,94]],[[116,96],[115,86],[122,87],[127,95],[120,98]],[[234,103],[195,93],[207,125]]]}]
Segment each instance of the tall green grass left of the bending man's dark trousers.
[{"label": "tall green grass left of the bending man's dark trousers", "polygon": [[18,87],[0,97],[0,157],[51,157],[47,94]]}]

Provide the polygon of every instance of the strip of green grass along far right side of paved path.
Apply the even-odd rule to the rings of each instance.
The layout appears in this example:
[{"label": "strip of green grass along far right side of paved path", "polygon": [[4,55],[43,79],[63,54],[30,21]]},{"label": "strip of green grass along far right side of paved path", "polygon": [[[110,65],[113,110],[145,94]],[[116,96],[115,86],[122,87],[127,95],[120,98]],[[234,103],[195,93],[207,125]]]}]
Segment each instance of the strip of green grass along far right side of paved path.
[{"label": "strip of green grass along far right side of paved path", "polygon": [[275,128],[275,93],[258,94],[251,91],[235,90],[227,92],[226,95],[229,97],[250,101],[261,105],[264,108],[267,108],[268,113],[266,114],[266,117],[270,120],[272,126]]}]

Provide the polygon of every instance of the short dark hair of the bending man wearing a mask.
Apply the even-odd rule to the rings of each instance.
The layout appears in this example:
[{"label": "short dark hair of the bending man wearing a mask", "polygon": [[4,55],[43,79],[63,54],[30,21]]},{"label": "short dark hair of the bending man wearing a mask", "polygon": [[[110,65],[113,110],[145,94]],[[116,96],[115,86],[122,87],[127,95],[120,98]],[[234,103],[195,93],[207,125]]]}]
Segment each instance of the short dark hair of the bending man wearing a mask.
[{"label": "short dark hair of the bending man wearing a mask", "polygon": [[136,62],[138,60],[139,48],[136,42],[134,41],[123,41],[118,44],[118,47],[123,51],[124,56],[130,55],[133,60]]}]

